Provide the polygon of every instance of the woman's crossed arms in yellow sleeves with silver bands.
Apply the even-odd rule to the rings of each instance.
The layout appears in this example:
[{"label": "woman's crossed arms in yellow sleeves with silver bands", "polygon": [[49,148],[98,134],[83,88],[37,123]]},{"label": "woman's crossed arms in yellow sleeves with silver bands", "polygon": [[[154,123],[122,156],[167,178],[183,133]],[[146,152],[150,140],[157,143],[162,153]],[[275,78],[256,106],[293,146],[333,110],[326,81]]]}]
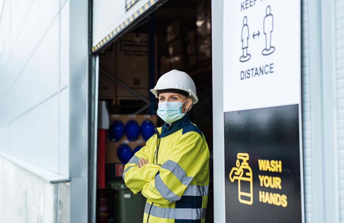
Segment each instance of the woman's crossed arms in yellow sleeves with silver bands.
[{"label": "woman's crossed arms in yellow sleeves with silver bands", "polygon": [[133,193],[141,191],[152,202],[167,205],[181,199],[196,174],[208,164],[209,151],[197,133],[184,134],[161,166],[147,162],[147,145],[126,164],[123,179]]}]

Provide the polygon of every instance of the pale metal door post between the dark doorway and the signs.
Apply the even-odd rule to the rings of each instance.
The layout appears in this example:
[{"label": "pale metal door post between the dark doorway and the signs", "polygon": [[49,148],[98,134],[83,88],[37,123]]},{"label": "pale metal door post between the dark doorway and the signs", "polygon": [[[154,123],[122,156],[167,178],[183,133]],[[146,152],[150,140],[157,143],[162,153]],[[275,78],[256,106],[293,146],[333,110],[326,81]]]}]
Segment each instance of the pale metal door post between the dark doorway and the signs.
[{"label": "pale metal door post between the dark doorway and the signs", "polygon": [[214,222],[225,222],[223,2],[212,1]]}]

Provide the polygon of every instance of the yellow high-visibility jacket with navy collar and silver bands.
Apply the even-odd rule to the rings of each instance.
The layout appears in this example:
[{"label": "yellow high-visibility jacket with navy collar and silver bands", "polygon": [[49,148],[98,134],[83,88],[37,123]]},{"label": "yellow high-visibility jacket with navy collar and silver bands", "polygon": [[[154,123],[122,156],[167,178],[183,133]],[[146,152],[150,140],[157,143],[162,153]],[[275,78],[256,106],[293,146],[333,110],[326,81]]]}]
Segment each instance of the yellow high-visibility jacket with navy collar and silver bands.
[{"label": "yellow high-visibility jacket with navy collar and silver bands", "polygon": [[[143,223],[205,222],[209,149],[204,135],[187,114],[155,131],[123,172],[127,187],[147,198]],[[148,164],[138,168],[141,157]]]}]

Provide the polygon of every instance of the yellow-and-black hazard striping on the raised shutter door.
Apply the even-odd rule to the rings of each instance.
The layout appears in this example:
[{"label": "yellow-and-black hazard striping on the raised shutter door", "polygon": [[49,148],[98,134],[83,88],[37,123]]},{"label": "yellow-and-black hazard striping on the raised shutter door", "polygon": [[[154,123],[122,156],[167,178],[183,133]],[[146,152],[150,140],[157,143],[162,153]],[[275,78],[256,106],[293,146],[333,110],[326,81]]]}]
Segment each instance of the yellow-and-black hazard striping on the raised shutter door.
[{"label": "yellow-and-black hazard striping on the raised shutter door", "polygon": [[[138,0],[132,0],[130,1],[130,7],[136,3]],[[124,22],[122,22],[119,26],[117,26],[116,29],[114,29],[112,32],[110,32],[108,35],[106,35],[103,40],[101,40],[97,45],[92,47],[92,52],[97,51],[101,46],[103,46],[105,43],[113,39],[118,33],[120,33],[123,29],[125,29],[130,23],[132,23],[135,19],[137,19],[140,15],[142,15],[144,12],[146,12],[150,7],[152,7],[155,3],[157,3],[159,0],[150,0],[144,6],[142,6],[139,10],[137,10],[134,14],[132,14],[128,19],[126,19]],[[128,4],[129,4],[128,3]],[[128,7],[128,4],[126,7]],[[128,8],[127,8],[128,9]]]}]

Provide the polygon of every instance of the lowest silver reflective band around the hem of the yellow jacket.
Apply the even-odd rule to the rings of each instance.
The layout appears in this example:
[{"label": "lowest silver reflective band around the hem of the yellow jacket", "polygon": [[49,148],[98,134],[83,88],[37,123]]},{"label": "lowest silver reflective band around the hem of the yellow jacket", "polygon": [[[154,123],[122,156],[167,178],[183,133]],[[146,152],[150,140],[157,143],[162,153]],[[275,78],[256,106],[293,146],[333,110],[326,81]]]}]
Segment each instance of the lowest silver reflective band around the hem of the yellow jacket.
[{"label": "lowest silver reflective band around the hem of the yellow jacket", "polygon": [[[149,213],[151,204],[146,203],[144,212]],[[152,205],[150,215],[165,219],[197,220],[205,218],[206,208],[163,208]]]}]

